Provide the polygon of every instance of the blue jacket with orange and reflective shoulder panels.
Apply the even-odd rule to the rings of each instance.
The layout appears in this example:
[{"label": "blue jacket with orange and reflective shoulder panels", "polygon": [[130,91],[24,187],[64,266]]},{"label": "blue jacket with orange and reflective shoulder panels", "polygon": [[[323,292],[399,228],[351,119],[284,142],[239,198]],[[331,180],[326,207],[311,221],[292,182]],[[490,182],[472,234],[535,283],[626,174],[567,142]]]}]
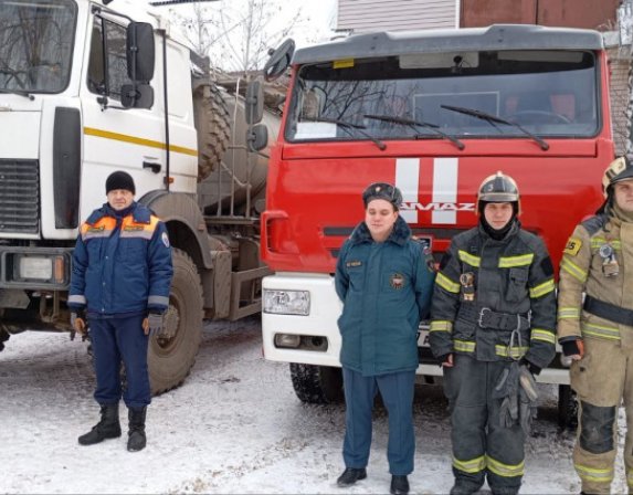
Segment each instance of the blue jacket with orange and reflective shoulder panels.
[{"label": "blue jacket with orange and reflective shoulder panels", "polygon": [[82,224],[68,306],[95,317],[163,312],[172,274],[165,224],[143,204],[116,212],[106,203]]}]

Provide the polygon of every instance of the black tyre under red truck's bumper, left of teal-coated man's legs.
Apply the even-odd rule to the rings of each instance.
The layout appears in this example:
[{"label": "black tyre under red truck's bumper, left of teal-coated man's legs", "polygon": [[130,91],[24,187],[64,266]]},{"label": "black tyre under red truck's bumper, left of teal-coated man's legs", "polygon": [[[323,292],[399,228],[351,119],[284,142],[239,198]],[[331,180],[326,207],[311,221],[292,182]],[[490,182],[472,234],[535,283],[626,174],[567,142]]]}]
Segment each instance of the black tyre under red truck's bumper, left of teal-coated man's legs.
[{"label": "black tyre under red truck's bumper, left of teal-coated man's legs", "polygon": [[295,393],[302,402],[329,404],[342,401],[342,371],[329,366],[291,362]]}]

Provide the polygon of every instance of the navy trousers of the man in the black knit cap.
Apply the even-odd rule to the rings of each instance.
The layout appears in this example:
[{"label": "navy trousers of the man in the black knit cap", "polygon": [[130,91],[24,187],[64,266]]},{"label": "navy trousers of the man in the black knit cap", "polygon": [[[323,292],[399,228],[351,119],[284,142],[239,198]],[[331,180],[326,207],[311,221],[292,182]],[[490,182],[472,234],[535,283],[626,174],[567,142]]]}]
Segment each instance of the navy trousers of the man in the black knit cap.
[{"label": "navy trousers of the man in the black knit cap", "polygon": [[[93,347],[97,388],[95,400],[104,404],[123,400],[128,408],[143,408],[151,401],[147,370],[149,338],[143,331],[145,315],[125,318],[91,318],[89,335]],[[125,365],[126,387],[123,390],[120,364]]]}]

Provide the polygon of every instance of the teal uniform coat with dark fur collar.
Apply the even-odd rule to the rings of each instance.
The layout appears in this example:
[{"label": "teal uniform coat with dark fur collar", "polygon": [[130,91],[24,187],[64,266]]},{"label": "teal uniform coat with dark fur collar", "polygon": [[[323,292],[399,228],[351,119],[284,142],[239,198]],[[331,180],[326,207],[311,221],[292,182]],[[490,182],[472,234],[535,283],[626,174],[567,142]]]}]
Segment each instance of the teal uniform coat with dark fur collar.
[{"label": "teal uniform coat with dark fur collar", "polygon": [[401,217],[384,242],[374,242],[360,223],[341,247],[335,276],[344,303],[342,366],[363,376],[415,370],[418,327],[428,316],[433,280],[430,256]]}]

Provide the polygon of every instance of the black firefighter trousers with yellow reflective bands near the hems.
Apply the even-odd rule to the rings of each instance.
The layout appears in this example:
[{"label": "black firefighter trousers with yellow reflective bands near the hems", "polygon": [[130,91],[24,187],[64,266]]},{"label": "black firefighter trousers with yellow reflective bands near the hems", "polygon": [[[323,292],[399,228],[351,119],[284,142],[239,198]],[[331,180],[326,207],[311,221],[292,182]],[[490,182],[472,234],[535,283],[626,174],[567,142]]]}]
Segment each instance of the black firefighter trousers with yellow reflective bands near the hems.
[{"label": "black firefighter trousers with yellow reflective bands near the hems", "polygon": [[500,399],[492,392],[505,361],[478,361],[455,355],[444,368],[444,392],[451,409],[453,474],[476,492],[487,475],[494,494],[516,494],[524,473],[525,434],[520,424],[500,424]]}]

